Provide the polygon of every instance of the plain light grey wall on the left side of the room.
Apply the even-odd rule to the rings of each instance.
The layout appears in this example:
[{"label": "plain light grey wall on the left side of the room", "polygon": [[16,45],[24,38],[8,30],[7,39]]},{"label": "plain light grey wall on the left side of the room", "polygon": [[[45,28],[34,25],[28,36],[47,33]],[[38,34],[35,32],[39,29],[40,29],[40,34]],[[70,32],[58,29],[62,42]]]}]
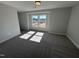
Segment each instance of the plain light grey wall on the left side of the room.
[{"label": "plain light grey wall on the left side of the room", "polygon": [[17,10],[0,3],[0,43],[20,34]]}]

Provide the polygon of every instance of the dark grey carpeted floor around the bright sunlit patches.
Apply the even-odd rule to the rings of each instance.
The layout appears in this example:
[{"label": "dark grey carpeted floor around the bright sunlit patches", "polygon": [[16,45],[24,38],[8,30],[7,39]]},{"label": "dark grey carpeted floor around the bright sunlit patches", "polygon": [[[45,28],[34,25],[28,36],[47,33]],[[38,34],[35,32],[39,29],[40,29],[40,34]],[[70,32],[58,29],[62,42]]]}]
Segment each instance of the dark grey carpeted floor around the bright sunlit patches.
[{"label": "dark grey carpeted floor around the bright sunlit patches", "polygon": [[77,58],[79,50],[66,37],[45,33],[41,43],[16,36],[0,44],[3,58]]}]

